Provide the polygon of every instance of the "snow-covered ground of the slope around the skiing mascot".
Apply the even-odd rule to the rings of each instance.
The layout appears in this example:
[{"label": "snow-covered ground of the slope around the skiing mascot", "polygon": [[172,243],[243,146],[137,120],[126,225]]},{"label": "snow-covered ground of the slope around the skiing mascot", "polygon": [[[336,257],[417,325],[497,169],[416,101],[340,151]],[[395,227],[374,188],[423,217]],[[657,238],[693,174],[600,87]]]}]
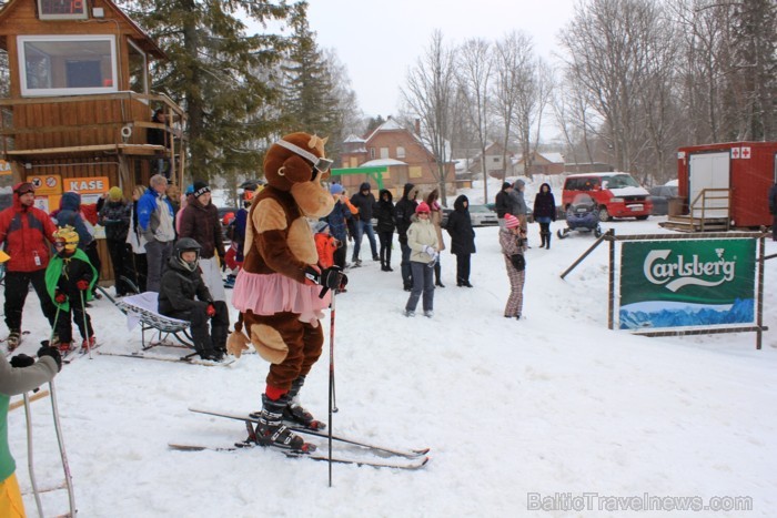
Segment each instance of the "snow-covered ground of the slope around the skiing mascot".
[{"label": "snow-covered ground of the slope around the skiing mascot", "polygon": [[[603,226],[654,233],[658,221]],[[241,423],[188,407],[260,408],[266,364],[256,355],[229,367],[94,355],[56,380],[79,516],[689,516],[626,511],[609,507],[613,497],[634,497],[633,506],[748,497],[749,512],[694,515],[774,516],[777,261],[767,261],[765,276],[765,324],[773,331],[756,351],[755,334],[646,338],[608,331],[606,246],[559,278],[594,242],[578,233],[554,238],[549,251],[527,252],[525,318],[506,319],[496,234],[477,230],[474,288],[455,286],[455,258],[443,254],[447,287],[435,293],[432,319],[402,315],[398,244],[395,271],[385,273],[369,261],[365,240],[364,265],[350,271],[349,291],[336,299],[335,431],[431,447],[424,469],[336,465],[330,488],[326,464],[276,451],[171,451],[169,441],[242,439]],[[536,246],[536,225],[529,237]],[[777,253],[777,243],[769,241],[767,253]],[[91,314],[104,351],[139,349],[140,331],[128,332],[109,301],[95,302]],[[302,396],[325,420],[329,315],[323,325],[324,355]],[[24,328],[32,333],[20,351],[34,353],[44,327],[31,293]],[[38,480],[57,486],[62,471],[49,400],[32,409]],[[27,510],[36,516],[22,410],[11,412],[9,429]],[[47,516],[65,512],[67,494],[48,492],[43,504]]]}]

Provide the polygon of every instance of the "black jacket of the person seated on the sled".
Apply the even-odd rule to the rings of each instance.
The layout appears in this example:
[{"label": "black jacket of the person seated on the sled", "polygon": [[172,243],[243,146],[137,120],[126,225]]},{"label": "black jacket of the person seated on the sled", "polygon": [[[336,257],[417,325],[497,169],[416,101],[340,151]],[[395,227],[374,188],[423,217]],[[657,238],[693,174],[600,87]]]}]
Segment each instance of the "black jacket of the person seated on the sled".
[{"label": "black jacket of the person seated on the sled", "polygon": [[159,287],[159,312],[162,315],[173,316],[174,313],[191,311],[213,302],[211,292],[202,281],[200,268],[190,272],[178,257],[179,254],[173,253],[168,268],[162,274]]}]

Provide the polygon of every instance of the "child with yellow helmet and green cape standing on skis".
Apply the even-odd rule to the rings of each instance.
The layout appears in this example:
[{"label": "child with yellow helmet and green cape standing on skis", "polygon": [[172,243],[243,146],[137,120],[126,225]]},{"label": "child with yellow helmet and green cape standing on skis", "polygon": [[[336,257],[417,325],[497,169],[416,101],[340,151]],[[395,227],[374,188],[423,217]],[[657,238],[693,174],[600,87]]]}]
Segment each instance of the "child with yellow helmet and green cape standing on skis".
[{"label": "child with yellow helmet and green cape standing on skis", "polygon": [[98,273],[78,244],[79,236],[75,228],[69,225],[60,227],[54,233],[57,254],[46,268],[46,288],[57,306],[58,314],[56,336],[51,345],[58,346],[62,354],[74,348],[71,313],[83,338],[82,352],[85,353],[95,345],[87,303],[92,299],[92,288]]}]

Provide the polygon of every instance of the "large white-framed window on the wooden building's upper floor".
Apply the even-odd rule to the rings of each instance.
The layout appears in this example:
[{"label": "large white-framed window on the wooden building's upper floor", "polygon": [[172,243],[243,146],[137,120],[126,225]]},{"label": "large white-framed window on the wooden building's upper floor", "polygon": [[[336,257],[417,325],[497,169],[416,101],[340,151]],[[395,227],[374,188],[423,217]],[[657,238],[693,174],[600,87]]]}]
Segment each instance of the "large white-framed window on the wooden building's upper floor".
[{"label": "large white-framed window on the wooden building's upper floor", "polygon": [[22,95],[118,91],[112,35],[20,35],[18,43]]}]

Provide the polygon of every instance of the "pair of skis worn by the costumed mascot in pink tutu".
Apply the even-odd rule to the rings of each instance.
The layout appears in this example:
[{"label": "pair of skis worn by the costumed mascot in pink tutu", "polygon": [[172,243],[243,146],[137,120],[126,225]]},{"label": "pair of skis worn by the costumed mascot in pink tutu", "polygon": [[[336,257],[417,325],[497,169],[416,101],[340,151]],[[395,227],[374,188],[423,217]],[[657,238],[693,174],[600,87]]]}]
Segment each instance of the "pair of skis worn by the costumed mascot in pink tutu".
[{"label": "pair of skis worn by the costumed mascot in pink tutu", "polygon": [[[246,427],[251,427],[252,425],[256,424],[259,419],[256,417],[252,417],[250,414],[233,414],[233,413],[225,413],[225,412],[218,412],[218,410],[206,410],[206,409],[201,409],[201,408],[189,408],[191,412],[198,413],[198,414],[205,414],[209,416],[215,416],[215,417],[225,417],[228,419],[235,419],[235,420],[241,420],[245,423]],[[315,436],[315,437],[321,437],[321,438],[329,438],[329,433],[327,431],[321,431],[321,430],[313,430],[310,428],[301,427],[299,425],[286,425],[289,426],[290,429],[297,434],[303,434],[303,435],[310,435],[310,436]],[[353,446],[362,451],[373,454],[377,457],[383,457],[384,459],[373,459],[373,458],[355,458],[355,457],[342,457],[340,455],[333,455],[332,456],[332,463],[336,464],[351,464],[351,465],[356,465],[356,466],[372,466],[376,468],[394,468],[394,469],[420,469],[423,466],[428,463],[430,458],[426,454],[428,454],[430,448],[422,448],[422,449],[397,449],[397,448],[390,448],[385,446],[379,446],[370,443],[365,443],[362,440],[356,440],[356,439],[351,439],[347,437],[343,437],[340,435],[332,435],[332,440],[342,443],[345,445]],[[201,446],[201,445],[185,445],[185,444],[174,444],[171,443],[168,445],[172,449],[178,449],[182,451],[203,451],[203,450],[214,450],[214,451],[235,451],[238,449],[243,449],[246,447],[253,447],[254,445],[252,443],[236,443],[235,446],[233,447],[209,447],[209,446]],[[330,456],[327,454],[323,453],[302,453],[302,451],[292,451],[287,449],[281,449],[281,448],[272,448],[272,449],[279,449],[282,451],[286,457],[292,457],[292,458],[306,458],[311,460],[321,460],[321,461],[329,461]],[[393,458],[393,460],[392,460]]]}]

